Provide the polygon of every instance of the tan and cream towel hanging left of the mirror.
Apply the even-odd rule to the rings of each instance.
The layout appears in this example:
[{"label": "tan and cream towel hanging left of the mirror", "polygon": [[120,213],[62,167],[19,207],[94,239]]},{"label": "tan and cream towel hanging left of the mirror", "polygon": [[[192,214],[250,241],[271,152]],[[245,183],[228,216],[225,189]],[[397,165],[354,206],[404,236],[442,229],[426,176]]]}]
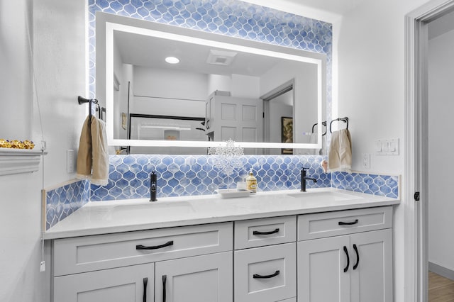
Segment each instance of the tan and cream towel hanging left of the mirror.
[{"label": "tan and cream towel hanging left of the mirror", "polygon": [[107,152],[106,125],[92,116],[84,121],[77,152],[78,179],[90,179],[92,184],[105,186],[109,179],[109,153]]}]

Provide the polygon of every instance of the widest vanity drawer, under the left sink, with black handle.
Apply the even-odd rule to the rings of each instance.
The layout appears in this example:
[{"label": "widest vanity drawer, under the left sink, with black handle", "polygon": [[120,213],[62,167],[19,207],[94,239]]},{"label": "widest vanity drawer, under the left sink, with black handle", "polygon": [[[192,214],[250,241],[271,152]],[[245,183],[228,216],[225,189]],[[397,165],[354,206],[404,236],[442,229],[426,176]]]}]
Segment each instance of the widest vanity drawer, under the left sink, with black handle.
[{"label": "widest vanity drawer, under the left sink, with black handle", "polygon": [[59,239],[53,242],[54,276],[224,252],[232,245],[232,223]]}]

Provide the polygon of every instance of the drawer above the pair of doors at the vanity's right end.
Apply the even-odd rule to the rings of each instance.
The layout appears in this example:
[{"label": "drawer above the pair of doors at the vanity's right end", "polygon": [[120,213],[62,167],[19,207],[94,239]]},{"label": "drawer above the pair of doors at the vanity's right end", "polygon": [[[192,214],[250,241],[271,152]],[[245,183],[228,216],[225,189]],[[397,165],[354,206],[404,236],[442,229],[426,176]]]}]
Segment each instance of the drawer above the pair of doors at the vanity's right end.
[{"label": "drawer above the pair of doors at the vanity's right end", "polygon": [[392,206],[298,216],[298,240],[392,228]]}]

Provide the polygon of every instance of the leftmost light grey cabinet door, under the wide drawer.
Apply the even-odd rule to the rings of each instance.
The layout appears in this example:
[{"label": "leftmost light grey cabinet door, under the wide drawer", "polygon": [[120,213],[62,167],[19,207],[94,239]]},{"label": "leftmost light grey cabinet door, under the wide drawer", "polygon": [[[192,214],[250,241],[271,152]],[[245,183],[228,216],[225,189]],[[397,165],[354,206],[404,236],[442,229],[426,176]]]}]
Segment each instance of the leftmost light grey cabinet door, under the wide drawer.
[{"label": "leftmost light grey cabinet door, under the wide drawer", "polygon": [[150,263],[57,276],[53,301],[153,302],[154,272],[154,264]]}]

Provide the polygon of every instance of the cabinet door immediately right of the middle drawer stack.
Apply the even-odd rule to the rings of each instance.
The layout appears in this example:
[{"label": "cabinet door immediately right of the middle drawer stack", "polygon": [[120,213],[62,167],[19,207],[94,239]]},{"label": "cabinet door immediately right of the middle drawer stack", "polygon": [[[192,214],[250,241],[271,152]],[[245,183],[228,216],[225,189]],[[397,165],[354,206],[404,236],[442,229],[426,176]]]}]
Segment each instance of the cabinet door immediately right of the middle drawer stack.
[{"label": "cabinet door immediately right of the middle drawer stack", "polygon": [[348,246],[348,235],[298,242],[299,302],[350,301],[350,269],[344,272],[348,257],[351,266]]}]

